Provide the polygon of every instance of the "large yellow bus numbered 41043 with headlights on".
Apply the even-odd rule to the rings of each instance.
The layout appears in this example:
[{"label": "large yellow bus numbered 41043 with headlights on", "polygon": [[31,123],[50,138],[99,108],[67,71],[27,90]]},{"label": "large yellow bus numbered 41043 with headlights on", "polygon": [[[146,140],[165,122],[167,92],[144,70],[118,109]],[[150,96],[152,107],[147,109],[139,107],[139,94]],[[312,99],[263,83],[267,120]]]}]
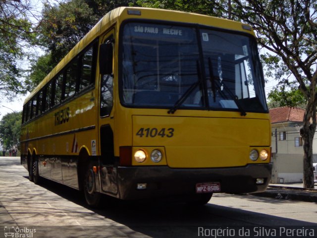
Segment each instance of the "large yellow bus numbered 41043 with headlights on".
[{"label": "large yellow bus numbered 41043 with headlights on", "polygon": [[264,76],[249,25],[150,8],[108,12],[25,99],[29,178],[91,206],[263,191],[271,175]]}]

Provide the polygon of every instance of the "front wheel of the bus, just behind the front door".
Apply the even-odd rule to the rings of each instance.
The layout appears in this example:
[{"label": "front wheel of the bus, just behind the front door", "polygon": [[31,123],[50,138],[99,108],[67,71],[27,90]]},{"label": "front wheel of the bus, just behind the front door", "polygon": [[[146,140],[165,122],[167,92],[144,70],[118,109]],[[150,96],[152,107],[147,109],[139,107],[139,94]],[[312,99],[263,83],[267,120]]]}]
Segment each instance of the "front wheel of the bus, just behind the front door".
[{"label": "front wheel of the bus, just behind the front door", "polygon": [[99,207],[102,194],[96,192],[95,175],[91,166],[88,167],[83,181],[86,202],[91,207]]}]

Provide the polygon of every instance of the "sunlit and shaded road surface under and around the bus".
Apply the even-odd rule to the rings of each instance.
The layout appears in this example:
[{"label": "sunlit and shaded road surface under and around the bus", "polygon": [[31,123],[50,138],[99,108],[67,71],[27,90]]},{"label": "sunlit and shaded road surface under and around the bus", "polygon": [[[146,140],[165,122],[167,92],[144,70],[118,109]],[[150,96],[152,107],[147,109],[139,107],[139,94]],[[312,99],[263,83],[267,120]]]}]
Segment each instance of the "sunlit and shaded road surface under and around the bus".
[{"label": "sunlit and shaded road surface under and around the bus", "polygon": [[[283,237],[278,231],[287,226],[315,229],[316,237],[316,203],[218,193],[199,208],[164,201],[106,201],[103,208],[91,209],[79,191],[49,180],[36,185],[18,157],[0,157],[0,238],[9,237],[12,229],[18,233],[14,236],[32,238],[215,237],[214,229],[222,229],[218,238],[233,237],[230,229],[235,237],[248,236],[240,236],[241,229],[251,230],[249,237]],[[306,235],[301,237],[310,237]]]}]

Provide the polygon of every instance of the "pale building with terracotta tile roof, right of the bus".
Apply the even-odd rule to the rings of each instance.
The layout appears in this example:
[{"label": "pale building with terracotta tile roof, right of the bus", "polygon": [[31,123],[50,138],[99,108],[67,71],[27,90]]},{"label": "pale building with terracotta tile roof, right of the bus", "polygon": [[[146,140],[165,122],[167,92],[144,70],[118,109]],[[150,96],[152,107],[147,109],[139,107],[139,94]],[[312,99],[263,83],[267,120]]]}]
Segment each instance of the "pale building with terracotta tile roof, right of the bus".
[{"label": "pale building with terracotta tile roof, right of the bus", "polygon": [[[270,109],[272,183],[303,181],[303,140],[299,130],[303,126],[305,110],[282,107]],[[314,137],[314,163],[317,162],[317,133]]]}]

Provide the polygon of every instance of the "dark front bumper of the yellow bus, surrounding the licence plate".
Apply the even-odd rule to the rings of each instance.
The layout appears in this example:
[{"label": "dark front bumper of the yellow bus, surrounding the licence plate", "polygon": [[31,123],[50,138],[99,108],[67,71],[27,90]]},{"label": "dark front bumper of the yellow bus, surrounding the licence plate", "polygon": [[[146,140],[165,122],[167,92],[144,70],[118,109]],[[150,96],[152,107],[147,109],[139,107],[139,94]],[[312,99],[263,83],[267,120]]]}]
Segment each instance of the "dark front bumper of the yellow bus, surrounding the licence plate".
[{"label": "dark front bumper of the yellow bus, surrounding the licence plate", "polygon": [[[272,164],[244,167],[171,169],[167,166],[118,167],[118,197],[124,200],[194,195],[196,183],[220,182],[221,192],[262,192],[271,178]],[[256,184],[263,178],[264,184]],[[147,183],[144,190],[137,183]]]}]

